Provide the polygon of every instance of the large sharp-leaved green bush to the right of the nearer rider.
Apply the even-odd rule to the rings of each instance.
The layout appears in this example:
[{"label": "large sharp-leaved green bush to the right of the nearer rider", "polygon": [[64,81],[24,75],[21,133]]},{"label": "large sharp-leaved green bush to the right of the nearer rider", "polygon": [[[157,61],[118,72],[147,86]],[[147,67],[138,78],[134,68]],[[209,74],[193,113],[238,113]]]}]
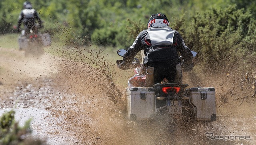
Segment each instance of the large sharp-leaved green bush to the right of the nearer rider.
[{"label": "large sharp-leaved green bush to the right of the nearer rider", "polygon": [[238,52],[245,55],[255,47],[255,20],[244,9],[212,8],[198,12],[193,19],[186,31],[186,42],[200,53],[206,66],[235,63]]}]

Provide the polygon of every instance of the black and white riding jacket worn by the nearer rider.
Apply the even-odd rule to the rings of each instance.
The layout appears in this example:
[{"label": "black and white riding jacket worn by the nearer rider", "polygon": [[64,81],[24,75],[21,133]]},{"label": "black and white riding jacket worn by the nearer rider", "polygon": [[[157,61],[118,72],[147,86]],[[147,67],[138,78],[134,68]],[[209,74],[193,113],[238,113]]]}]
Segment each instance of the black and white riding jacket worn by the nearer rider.
[{"label": "black and white riding jacket worn by the nearer rider", "polygon": [[144,50],[144,65],[163,60],[177,60],[178,52],[185,62],[192,62],[193,54],[184,44],[180,34],[170,27],[152,27],[140,32],[124,54],[124,62],[132,62],[134,56]]}]

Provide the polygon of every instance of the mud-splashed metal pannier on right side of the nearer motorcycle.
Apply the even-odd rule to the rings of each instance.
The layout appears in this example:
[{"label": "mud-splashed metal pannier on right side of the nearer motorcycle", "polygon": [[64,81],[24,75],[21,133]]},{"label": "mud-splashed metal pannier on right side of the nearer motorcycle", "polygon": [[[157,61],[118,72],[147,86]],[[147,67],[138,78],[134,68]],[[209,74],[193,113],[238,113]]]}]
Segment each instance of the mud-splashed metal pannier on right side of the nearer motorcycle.
[{"label": "mud-splashed metal pannier on right side of the nearer motorcycle", "polygon": [[215,121],[215,89],[214,87],[189,88],[191,103],[194,105],[198,121]]}]

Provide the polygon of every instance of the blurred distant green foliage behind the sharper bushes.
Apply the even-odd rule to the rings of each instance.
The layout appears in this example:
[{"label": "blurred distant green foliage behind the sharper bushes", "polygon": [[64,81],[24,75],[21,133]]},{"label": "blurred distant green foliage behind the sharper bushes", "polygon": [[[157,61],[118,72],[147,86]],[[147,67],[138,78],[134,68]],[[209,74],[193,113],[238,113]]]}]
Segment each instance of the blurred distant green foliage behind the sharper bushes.
[{"label": "blurred distant green foliage behind the sharper bushes", "polygon": [[[12,26],[17,25],[23,2],[24,0],[12,0],[12,2],[1,0],[1,34],[16,31]],[[110,38],[112,40],[108,38],[108,43],[123,44],[119,41],[123,41],[120,38],[126,39],[124,33],[127,34],[125,30],[129,23],[126,21],[127,18],[136,22],[141,20],[142,24],[146,24],[150,14],[162,12],[176,17],[177,14],[186,10],[186,6],[190,6],[187,0],[180,2],[176,0],[154,2],[146,0],[30,0],[30,2],[44,21],[43,32],[60,34],[58,35],[60,40],[66,44],[75,43],[76,45],[90,43],[95,31],[93,37],[101,38],[102,36],[96,35],[102,35],[109,30],[111,35],[114,32],[114,36]],[[63,31],[64,26],[69,29]],[[100,42],[100,45],[105,45],[105,43]]]}]

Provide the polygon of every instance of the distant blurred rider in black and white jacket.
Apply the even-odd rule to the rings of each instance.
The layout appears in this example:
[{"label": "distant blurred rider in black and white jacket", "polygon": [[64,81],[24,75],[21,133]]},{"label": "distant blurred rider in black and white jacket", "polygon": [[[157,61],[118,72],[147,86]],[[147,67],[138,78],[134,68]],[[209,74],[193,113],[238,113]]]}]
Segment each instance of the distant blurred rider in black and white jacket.
[{"label": "distant blurred rider in black and white jacket", "polygon": [[43,28],[42,20],[39,18],[38,13],[36,10],[32,9],[32,4],[30,2],[23,3],[23,10],[20,13],[19,20],[18,20],[18,32],[20,32],[20,26],[23,22],[25,33],[26,35],[30,32],[30,29],[33,32],[37,32],[36,30],[36,20],[38,20],[39,28]]}]

